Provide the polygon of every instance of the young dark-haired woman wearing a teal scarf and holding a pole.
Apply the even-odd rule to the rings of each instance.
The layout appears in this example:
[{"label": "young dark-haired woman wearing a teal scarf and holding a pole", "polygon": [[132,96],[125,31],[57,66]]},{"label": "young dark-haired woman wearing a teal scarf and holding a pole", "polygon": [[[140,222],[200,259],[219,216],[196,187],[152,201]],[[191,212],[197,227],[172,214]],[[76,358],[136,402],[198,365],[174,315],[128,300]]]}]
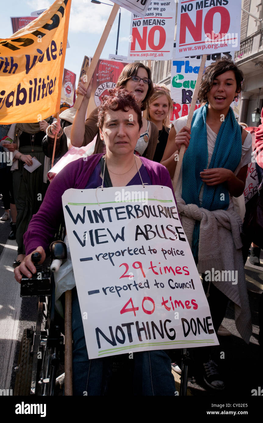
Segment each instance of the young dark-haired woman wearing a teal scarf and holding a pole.
[{"label": "young dark-haired woman wearing a teal scarf and holding a pole", "polygon": [[[239,222],[238,214],[233,211],[232,197],[238,197],[244,191],[247,165],[251,161],[252,139],[248,132],[244,130],[241,132],[230,104],[241,92],[242,80],[242,72],[231,60],[222,58],[208,66],[205,69],[198,93],[199,102],[204,105],[194,112],[191,129],[185,126],[187,116],[174,122],[161,161],[168,168],[171,177],[173,177],[177,164],[174,161],[174,153],[180,151],[181,145],[185,144],[186,150],[175,194],[178,206],[180,204],[178,198],[181,197],[182,204],[188,207],[188,210],[193,205],[195,205],[196,210],[196,206],[198,206],[199,209],[197,210],[200,211],[200,216],[203,217],[205,215],[205,218],[211,218],[212,220],[216,218],[217,223],[219,222],[217,220],[218,217],[221,217],[220,213],[224,214],[223,211],[227,211],[228,214],[225,213],[224,218],[229,215],[230,219],[232,218],[235,222],[238,222],[240,227],[241,220]],[[211,214],[207,211],[203,213],[203,209],[210,211]],[[182,213],[184,212],[182,211]],[[181,217],[183,220],[182,215]],[[202,217],[200,217],[201,225]],[[230,236],[232,234],[232,237],[230,238],[231,242],[228,244],[226,240],[221,239],[219,236],[219,223],[218,225],[216,224],[218,229],[214,233],[205,233],[204,236],[204,231],[202,231],[202,236],[200,236],[200,220],[196,217],[190,216],[190,218],[194,219],[194,230],[191,233],[190,245],[199,272],[205,272],[200,270],[204,269],[200,263],[200,249],[201,247],[203,249],[204,245],[209,252],[211,251],[210,268],[206,267],[206,269],[210,271],[212,267],[214,267],[214,270],[219,269],[219,263],[221,262],[221,269],[227,270],[225,258],[213,255],[213,250],[218,248],[218,244],[223,244],[223,248],[226,250],[237,248],[235,243],[236,235],[240,237],[238,224],[237,234],[235,233],[234,235],[231,232],[232,227],[230,228],[228,234],[230,233]],[[188,222],[190,221],[188,220]],[[184,227],[184,229],[186,232],[187,227]],[[238,263],[240,263],[241,248],[235,253],[229,251],[230,257],[234,254],[238,254]],[[237,262],[231,264],[236,269]],[[239,275],[240,272],[243,273]],[[244,316],[245,335],[240,330],[240,323],[237,324],[238,313],[236,309],[235,318],[238,331],[242,332],[241,335],[248,342],[251,324],[249,323],[250,313],[244,270],[242,271],[242,268],[241,270],[238,269],[238,285],[236,286],[231,286],[231,282],[221,282],[221,285],[215,284],[213,280],[210,282],[206,282],[203,277],[203,287],[208,297],[214,330],[218,331],[224,318],[228,299],[242,297],[242,304],[238,305],[237,301],[237,305],[240,307],[239,316]],[[218,366],[212,360],[215,357],[213,357],[211,347],[196,350],[197,352],[194,355],[197,362],[203,363],[206,384],[213,389],[224,389],[224,382],[219,374]]]}]

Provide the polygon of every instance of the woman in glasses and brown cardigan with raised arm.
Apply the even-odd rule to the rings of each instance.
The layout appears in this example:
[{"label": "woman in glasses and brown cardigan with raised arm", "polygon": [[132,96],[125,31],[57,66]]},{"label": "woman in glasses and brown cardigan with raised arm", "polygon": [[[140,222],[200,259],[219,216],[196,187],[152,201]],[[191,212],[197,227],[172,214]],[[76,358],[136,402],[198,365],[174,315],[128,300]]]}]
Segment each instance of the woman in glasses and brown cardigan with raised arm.
[{"label": "woman in glasses and brown cardigan with raised arm", "polygon": [[[147,66],[140,62],[129,63],[123,69],[119,76],[116,87],[126,88],[128,91],[134,93],[141,110],[145,110],[149,97],[152,95],[153,85],[151,80],[151,71]],[[71,131],[71,144],[75,147],[86,146],[98,134],[97,129],[97,109],[95,109],[85,122],[86,110],[89,104],[91,95],[91,84],[86,90],[82,82],[79,82],[76,93],[84,96],[79,110],[77,110],[72,131]],[[152,123],[142,118],[142,127],[140,136],[136,144],[135,151],[139,156],[147,157],[152,160],[155,148],[158,141],[158,129]],[[105,144],[97,135],[96,146],[94,153],[105,152]]]}]

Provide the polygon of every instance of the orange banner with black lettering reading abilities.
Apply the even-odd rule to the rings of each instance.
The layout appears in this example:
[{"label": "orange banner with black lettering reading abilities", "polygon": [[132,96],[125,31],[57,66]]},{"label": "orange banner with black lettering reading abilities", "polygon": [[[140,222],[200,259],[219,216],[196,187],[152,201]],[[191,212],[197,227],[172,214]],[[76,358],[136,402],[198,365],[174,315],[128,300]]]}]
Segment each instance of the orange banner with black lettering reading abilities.
[{"label": "orange banner with black lettering reading abilities", "polygon": [[57,0],[0,39],[0,123],[38,122],[59,110],[71,0]]}]

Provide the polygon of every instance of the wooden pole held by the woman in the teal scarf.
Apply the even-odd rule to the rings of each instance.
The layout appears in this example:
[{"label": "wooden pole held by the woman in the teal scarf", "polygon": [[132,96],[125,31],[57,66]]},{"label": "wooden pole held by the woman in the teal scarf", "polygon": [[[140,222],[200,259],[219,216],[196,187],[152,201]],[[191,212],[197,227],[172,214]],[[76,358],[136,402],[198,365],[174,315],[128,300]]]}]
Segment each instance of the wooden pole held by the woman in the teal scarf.
[{"label": "wooden pole held by the woman in the teal scarf", "polygon": [[[201,84],[201,81],[202,81],[203,72],[204,72],[204,69],[205,69],[206,58],[207,58],[206,54],[202,55],[201,65],[200,65],[200,69],[199,69],[199,72],[198,72],[198,75],[197,75],[197,82],[196,82],[195,87],[194,87],[194,94],[192,96],[191,106],[190,106],[188,119],[187,119],[187,123],[186,123],[186,126],[188,128],[191,128],[191,123],[192,123],[193,114],[194,114],[194,107],[195,107],[196,102],[197,102],[197,95],[198,95],[199,87],[200,87],[200,84]],[[191,140],[190,140],[190,143],[191,143]],[[178,178],[179,178],[184,153],[185,153],[185,145],[182,144],[182,146],[180,148],[180,152],[179,152],[179,160],[178,160],[178,163],[176,165],[175,172],[174,172],[174,179],[173,179],[174,192],[175,192],[175,188],[176,188],[177,181],[178,181]]]}]

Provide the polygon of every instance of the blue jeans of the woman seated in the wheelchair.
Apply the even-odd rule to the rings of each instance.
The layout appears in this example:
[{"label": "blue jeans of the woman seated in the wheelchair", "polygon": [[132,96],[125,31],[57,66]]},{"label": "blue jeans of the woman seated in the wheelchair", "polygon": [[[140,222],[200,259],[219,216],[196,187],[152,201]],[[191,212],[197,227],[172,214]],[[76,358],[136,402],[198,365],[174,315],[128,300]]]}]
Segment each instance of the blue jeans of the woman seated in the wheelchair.
[{"label": "blue jeans of the woman seated in the wheelchair", "polygon": [[[112,363],[115,359],[114,357],[103,357],[89,360],[76,288],[72,289],[72,337],[73,395],[106,395]],[[127,357],[127,354],[123,354],[123,356]],[[122,355],[118,357],[122,357]],[[174,395],[171,359],[166,352],[162,350],[136,352],[133,354],[132,362],[131,383],[134,396]],[[125,371],[122,384],[124,395],[127,383]]]}]

